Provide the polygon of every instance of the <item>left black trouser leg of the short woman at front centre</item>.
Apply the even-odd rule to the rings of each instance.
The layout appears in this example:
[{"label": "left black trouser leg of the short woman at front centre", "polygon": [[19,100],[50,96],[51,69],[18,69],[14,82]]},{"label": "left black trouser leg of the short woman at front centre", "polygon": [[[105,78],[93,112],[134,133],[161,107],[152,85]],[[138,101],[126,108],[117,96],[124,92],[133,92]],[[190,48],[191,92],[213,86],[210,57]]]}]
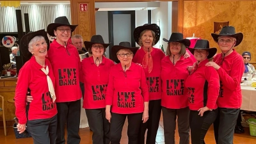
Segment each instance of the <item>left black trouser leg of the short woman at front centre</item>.
[{"label": "left black trouser leg of the short woman at front centre", "polygon": [[[122,130],[127,115],[111,113],[110,120],[110,141],[111,144],[120,144]],[[141,118],[142,119],[142,118]]]}]

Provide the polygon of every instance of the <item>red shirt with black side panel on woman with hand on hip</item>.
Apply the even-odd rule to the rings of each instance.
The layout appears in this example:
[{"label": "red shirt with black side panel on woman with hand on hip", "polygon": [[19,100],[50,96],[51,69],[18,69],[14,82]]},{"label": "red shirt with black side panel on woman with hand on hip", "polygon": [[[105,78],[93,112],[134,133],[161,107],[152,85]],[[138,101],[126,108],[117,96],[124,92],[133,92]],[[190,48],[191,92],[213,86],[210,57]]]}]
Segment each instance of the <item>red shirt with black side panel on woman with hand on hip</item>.
[{"label": "red shirt with black side panel on woman with hand on hip", "polygon": [[213,67],[206,67],[209,60],[196,65],[196,70],[186,79],[185,86],[189,93],[189,109],[197,111],[200,108],[216,109],[216,100],[220,92],[220,78]]}]

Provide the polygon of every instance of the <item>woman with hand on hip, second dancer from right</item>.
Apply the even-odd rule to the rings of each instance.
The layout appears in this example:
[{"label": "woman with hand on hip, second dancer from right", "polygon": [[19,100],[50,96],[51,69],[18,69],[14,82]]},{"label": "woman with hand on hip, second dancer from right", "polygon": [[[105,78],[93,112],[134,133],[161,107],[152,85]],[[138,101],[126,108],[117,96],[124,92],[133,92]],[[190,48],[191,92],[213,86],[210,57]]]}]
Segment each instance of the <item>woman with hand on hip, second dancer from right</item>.
[{"label": "woman with hand on hip, second dancer from right", "polygon": [[216,48],[209,48],[208,40],[197,40],[195,47],[189,48],[189,51],[194,54],[196,63],[185,86],[189,91],[191,143],[198,144],[205,143],[205,134],[218,115],[216,101],[220,92],[220,78],[213,67],[205,66],[217,52]]}]

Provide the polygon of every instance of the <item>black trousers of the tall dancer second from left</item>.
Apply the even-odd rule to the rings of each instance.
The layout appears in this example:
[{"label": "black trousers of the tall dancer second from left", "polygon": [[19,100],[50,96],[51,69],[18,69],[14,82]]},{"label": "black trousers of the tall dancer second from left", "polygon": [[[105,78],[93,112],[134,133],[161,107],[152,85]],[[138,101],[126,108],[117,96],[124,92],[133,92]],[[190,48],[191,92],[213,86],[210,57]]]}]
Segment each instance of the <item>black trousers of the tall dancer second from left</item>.
[{"label": "black trousers of the tall dancer second from left", "polygon": [[73,102],[57,102],[58,127],[56,144],[65,144],[65,124],[67,123],[67,144],[79,144],[79,124],[81,100]]}]

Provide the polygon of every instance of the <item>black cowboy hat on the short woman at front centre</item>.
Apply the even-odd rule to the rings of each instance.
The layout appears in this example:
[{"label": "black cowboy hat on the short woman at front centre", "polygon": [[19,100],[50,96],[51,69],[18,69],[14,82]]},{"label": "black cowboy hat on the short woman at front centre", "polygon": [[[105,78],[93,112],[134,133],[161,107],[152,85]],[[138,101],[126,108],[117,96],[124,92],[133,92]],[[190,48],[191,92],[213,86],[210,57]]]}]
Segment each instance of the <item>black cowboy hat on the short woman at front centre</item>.
[{"label": "black cowboy hat on the short woman at front centre", "polygon": [[117,55],[116,55],[116,53],[120,49],[129,49],[132,51],[133,55],[135,55],[136,52],[138,51],[139,47],[131,47],[130,42],[120,42],[119,45],[114,45],[111,49],[111,52],[112,52],[112,56],[113,56],[113,61],[115,61],[116,63],[120,63],[120,61],[118,60]]}]

